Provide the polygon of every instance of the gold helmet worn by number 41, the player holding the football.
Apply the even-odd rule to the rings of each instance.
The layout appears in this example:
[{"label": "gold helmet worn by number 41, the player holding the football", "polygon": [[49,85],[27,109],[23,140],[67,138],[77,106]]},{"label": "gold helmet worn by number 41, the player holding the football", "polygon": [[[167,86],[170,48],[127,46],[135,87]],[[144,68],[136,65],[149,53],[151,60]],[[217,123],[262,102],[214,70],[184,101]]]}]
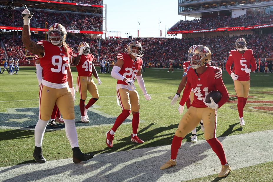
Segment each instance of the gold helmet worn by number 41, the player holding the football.
[{"label": "gold helmet worn by number 41, the player holding the football", "polygon": [[189,53],[188,61],[191,62],[191,67],[196,70],[211,61],[211,51],[206,46],[198,45]]}]

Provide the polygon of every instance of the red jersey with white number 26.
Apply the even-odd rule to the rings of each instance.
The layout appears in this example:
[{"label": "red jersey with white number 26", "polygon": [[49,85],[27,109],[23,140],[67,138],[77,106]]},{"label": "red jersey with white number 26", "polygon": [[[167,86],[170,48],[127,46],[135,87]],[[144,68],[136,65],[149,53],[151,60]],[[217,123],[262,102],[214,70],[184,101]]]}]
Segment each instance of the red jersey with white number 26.
[{"label": "red jersey with white number 26", "polygon": [[[135,75],[141,68],[142,59],[140,57],[136,57],[136,61],[134,61],[128,54],[119,53],[117,56],[117,60],[122,59],[124,64],[122,65],[119,74],[129,78],[130,80],[135,81]],[[118,80],[118,84],[128,85],[125,81]]]}]

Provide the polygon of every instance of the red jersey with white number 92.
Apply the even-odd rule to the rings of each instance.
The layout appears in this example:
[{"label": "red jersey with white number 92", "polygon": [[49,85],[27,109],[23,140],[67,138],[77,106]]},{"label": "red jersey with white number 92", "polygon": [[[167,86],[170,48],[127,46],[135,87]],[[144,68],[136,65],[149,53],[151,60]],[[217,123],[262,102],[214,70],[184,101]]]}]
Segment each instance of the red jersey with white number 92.
[{"label": "red jersey with white number 92", "polygon": [[49,41],[39,41],[37,44],[44,47],[44,56],[39,58],[43,68],[44,80],[51,83],[67,82],[67,67],[72,59],[72,49],[68,47],[68,54],[64,47],[59,48]]}]

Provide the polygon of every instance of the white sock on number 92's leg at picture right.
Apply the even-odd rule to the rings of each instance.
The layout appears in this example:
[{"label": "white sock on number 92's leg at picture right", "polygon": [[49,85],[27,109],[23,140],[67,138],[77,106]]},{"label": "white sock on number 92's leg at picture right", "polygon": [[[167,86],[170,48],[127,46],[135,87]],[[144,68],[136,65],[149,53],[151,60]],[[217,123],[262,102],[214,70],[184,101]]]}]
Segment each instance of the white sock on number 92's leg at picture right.
[{"label": "white sock on number 92's leg at picture right", "polygon": [[78,147],[79,143],[78,143],[77,130],[75,126],[75,119],[73,120],[64,119],[64,124],[65,124],[66,137],[69,140],[71,148]]}]

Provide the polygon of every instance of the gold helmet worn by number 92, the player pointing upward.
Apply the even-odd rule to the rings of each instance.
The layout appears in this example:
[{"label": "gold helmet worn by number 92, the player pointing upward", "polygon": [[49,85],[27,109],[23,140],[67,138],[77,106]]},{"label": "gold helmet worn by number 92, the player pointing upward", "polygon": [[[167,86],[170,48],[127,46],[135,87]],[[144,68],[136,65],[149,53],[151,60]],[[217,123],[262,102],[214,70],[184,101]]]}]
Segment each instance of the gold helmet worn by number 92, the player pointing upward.
[{"label": "gold helmet worn by number 92, the player pointing upward", "polygon": [[47,36],[53,45],[58,45],[65,42],[66,29],[61,24],[54,23],[49,27]]}]

